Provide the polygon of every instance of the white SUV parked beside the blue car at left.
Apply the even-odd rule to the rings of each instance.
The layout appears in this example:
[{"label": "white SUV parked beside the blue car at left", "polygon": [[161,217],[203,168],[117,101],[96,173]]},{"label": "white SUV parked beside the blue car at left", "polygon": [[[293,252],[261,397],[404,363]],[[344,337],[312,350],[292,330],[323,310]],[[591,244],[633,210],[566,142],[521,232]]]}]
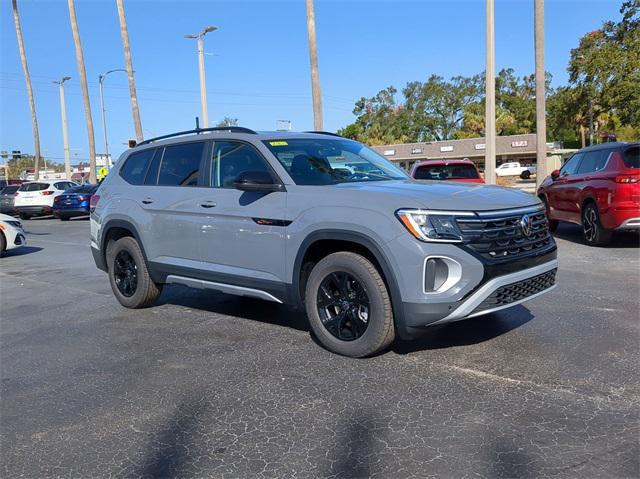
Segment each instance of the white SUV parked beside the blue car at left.
[{"label": "white SUV parked beside the blue car at left", "polygon": [[14,208],[20,218],[53,214],[53,199],[78,183],[69,180],[40,180],[23,183],[16,192]]}]

